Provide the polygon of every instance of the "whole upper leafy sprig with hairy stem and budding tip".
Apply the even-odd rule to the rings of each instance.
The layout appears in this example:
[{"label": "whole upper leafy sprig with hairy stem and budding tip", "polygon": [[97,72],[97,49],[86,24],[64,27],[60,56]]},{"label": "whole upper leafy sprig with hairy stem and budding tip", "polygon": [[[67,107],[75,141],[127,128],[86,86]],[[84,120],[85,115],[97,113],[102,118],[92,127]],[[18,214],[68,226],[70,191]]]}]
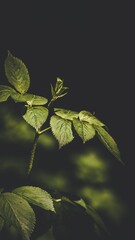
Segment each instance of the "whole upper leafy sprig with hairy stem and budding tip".
[{"label": "whole upper leafy sprig with hairy stem and budding tip", "polygon": [[[7,101],[11,97],[15,102],[25,102],[26,113],[24,120],[30,124],[39,136],[43,132],[51,129],[53,135],[59,142],[59,148],[70,143],[73,139],[72,125],[82,139],[83,143],[92,139],[95,135],[99,137],[107,149],[120,160],[120,152],[112,136],[106,131],[105,124],[98,120],[88,111],[75,112],[71,110],[54,108],[54,115],[50,117],[50,126],[41,130],[49,116],[49,106],[52,102],[67,94],[68,87],[64,86],[63,81],[57,78],[55,87],[51,85],[52,98],[47,104],[48,99],[42,96],[27,93],[30,87],[30,76],[25,64],[10,52],[5,60],[5,73],[8,82],[14,87],[0,85],[0,102]],[[38,139],[38,137],[36,138]],[[31,164],[36,150],[36,144],[33,145]]]}]

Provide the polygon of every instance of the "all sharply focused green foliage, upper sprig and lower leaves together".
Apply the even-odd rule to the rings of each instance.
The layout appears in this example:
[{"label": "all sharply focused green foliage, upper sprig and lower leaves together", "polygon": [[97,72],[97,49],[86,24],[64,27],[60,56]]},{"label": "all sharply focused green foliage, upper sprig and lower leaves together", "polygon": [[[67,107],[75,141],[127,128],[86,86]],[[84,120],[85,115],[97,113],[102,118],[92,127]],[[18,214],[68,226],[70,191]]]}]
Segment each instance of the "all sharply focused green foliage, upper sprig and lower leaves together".
[{"label": "all sharply focused green foliage, upper sprig and lower leaves together", "polygon": [[[49,130],[58,141],[59,148],[69,144],[76,135],[83,143],[98,136],[106,148],[122,162],[118,146],[106,130],[106,125],[91,112],[54,108],[54,113],[50,116],[51,103],[64,97],[69,89],[64,86],[63,80],[58,77],[55,86],[51,84],[52,96],[48,101],[46,97],[28,93],[30,87],[28,69],[22,60],[10,52],[5,60],[5,74],[11,86],[0,85],[0,102],[12,99],[15,103],[24,104],[26,110],[22,117],[35,132],[28,174],[33,167],[38,139]],[[109,238],[102,219],[84,200],[70,199],[63,195],[51,196],[48,191],[34,186],[21,186],[11,192],[1,190],[0,230],[5,226],[8,228],[14,226],[22,239],[30,239],[36,223],[34,206],[31,205],[38,206],[53,216],[50,225],[56,240],[76,239],[78,232],[81,238],[86,233],[92,239]]]}]

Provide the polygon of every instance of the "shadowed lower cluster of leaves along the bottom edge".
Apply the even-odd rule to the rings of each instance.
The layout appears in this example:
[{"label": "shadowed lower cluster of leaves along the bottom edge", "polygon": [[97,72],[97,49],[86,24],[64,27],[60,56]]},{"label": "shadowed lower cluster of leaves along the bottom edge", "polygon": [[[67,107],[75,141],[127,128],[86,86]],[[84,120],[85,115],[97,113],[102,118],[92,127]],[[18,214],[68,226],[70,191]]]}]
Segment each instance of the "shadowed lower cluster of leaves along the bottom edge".
[{"label": "shadowed lower cluster of leaves along the bottom edge", "polygon": [[[73,239],[83,237],[104,236],[109,233],[100,216],[82,200],[70,200],[67,197],[52,198],[51,195],[33,186],[22,186],[12,192],[0,193],[0,230],[6,226],[14,227],[24,240],[29,240],[34,230],[36,216],[31,205],[48,211],[53,218],[49,228],[53,228],[55,239]],[[79,228],[78,228],[79,227]]]}]

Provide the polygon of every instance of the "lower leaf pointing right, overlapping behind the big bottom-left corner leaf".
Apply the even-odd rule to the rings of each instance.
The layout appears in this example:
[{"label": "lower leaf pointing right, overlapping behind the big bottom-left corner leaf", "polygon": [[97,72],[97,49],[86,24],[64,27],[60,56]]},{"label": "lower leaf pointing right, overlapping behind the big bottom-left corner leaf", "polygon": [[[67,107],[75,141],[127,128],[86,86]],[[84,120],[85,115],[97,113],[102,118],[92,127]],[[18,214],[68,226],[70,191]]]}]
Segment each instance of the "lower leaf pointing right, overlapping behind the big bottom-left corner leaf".
[{"label": "lower leaf pointing right, overlapping behind the big bottom-left corner leaf", "polygon": [[39,187],[23,186],[14,189],[13,193],[21,196],[29,203],[55,212],[51,195]]}]

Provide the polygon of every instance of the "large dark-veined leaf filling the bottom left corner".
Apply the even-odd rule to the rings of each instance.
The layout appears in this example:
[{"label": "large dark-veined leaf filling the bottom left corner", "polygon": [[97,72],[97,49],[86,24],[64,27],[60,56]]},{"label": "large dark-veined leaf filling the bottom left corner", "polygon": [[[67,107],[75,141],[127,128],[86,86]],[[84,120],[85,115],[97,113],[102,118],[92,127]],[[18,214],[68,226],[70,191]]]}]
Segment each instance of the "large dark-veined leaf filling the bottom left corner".
[{"label": "large dark-veined leaf filling the bottom left corner", "polygon": [[24,240],[29,240],[35,226],[35,214],[28,202],[14,193],[0,195],[0,215],[8,225],[13,225]]}]

